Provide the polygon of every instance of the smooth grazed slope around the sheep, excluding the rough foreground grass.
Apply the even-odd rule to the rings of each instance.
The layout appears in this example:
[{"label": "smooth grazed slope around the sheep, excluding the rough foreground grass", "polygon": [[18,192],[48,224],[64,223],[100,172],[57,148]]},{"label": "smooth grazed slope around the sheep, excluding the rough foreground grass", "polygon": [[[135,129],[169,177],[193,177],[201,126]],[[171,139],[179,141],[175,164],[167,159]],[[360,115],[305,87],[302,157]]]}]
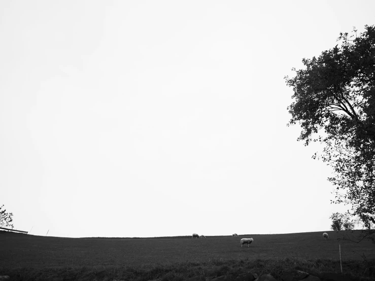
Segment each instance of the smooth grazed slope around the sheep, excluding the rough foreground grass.
[{"label": "smooth grazed slope around the sheep, excluding the rough foreground grass", "polygon": [[[256,260],[291,258],[303,260],[339,259],[361,260],[365,254],[375,258],[375,245],[338,241],[344,231],[327,231],[329,240],[322,239],[323,232],[207,236],[206,239],[189,238],[61,238],[26,234],[0,233],[0,265],[3,268],[77,268],[77,267],[147,267],[178,262],[206,263],[212,260]],[[359,231],[350,235],[353,238]],[[241,238],[254,238],[248,248],[241,247]]]}]

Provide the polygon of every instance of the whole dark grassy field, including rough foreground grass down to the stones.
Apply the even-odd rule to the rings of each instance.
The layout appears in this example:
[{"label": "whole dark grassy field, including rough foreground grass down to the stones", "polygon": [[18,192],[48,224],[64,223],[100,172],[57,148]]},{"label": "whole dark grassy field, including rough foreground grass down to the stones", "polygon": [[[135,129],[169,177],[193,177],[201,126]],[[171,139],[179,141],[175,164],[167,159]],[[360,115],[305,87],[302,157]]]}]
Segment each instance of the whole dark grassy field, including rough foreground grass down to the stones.
[{"label": "whole dark grassy field, including rough foreground grass down to the stones", "polygon": [[[204,275],[207,280],[252,271],[281,278],[283,271],[311,274],[343,272],[353,280],[375,280],[375,244],[337,240],[346,234],[322,232],[207,236],[186,238],[61,238],[0,231],[0,275],[11,280],[183,280]],[[254,238],[241,247],[244,237]],[[281,279],[280,279],[281,280]]]}]

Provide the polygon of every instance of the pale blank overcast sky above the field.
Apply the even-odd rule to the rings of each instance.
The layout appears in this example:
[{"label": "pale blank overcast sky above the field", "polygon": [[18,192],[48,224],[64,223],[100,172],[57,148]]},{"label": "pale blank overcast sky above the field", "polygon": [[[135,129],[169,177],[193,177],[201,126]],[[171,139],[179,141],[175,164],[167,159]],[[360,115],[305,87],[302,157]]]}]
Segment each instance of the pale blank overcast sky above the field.
[{"label": "pale blank overcast sky above the field", "polygon": [[64,237],[323,231],[284,76],[375,2],[0,2],[0,205]]}]

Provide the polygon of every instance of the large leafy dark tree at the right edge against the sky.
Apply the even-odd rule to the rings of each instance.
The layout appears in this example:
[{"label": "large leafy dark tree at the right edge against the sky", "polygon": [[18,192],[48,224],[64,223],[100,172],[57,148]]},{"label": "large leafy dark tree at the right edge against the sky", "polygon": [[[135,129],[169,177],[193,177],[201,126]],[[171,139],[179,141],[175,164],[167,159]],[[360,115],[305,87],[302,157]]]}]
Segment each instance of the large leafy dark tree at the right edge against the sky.
[{"label": "large leafy dark tree at the right edge against the sky", "polygon": [[332,202],[351,204],[351,215],[375,223],[375,26],[340,33],[337,41],[285,77],[294,91],[288,125],[301,126],[298,141],[305,145],[325,145],[313,158],[334,170]]}]

